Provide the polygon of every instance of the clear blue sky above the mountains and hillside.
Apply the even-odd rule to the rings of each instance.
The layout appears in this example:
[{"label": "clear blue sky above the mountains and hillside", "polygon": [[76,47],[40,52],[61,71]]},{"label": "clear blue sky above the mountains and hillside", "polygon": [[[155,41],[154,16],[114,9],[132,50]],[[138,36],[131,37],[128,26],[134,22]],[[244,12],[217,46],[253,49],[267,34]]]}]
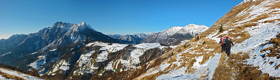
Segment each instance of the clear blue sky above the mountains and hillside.
[{"label": "clear blue sky above the mountains and hillside", "polygon": [[0,0],[0,39],[57,21],[85,21],[103,34],[161,32],[214,22],[243,0]]}]

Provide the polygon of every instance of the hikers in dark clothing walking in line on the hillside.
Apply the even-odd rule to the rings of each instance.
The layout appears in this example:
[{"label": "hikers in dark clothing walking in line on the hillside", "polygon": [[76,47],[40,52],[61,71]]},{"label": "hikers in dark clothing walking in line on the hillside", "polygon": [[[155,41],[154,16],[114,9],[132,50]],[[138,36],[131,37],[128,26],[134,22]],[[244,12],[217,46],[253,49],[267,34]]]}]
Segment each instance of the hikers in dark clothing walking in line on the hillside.
[{"label": "hikers in dark clothing walking in line on the hillside", "polygon": [[220,43],[221,43],[221,46],[222,46],[222,51],[226,51],[226,54],[228,57],[230,57],[231,55],[231,45],[233,45],[232,41],[231,41],[231,38],[229,37],[226,37],[226,38],[222,38],[220,39]]}]

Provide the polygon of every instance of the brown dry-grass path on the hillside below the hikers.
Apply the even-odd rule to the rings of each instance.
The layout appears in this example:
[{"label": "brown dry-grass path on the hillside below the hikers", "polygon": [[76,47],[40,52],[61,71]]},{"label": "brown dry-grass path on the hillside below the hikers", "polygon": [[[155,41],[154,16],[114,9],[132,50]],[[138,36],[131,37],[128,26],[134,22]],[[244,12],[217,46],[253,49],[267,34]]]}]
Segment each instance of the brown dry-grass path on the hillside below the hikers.
[{"label": "brown dry-grass path on the hillside below the hikers", "polygon": [[268,73],[262,74],[259,67],[245,64],[249,53],[239,52],[227,57],[222,53],[220,65],[216,68],[213,80],[274,80]]}]

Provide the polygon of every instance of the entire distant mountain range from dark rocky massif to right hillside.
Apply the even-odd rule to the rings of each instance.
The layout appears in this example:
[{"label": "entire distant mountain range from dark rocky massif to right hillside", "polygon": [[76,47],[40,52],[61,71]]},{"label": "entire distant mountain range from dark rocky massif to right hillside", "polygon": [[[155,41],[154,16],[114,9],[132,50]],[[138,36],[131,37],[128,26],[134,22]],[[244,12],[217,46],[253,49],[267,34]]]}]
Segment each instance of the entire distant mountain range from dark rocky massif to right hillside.
[{"label": "entire distant mountain range from dark rocky massif to right hillside", "polygon": [[177,45],[180,41],[190,40],[199,33],[207,30],[204,25],[189,24],[185,27],[175,26],[158,33],[139,33],[133,35],[108,35],[115,39],[135,41],[140,43],[162,43],[164,45]]}]

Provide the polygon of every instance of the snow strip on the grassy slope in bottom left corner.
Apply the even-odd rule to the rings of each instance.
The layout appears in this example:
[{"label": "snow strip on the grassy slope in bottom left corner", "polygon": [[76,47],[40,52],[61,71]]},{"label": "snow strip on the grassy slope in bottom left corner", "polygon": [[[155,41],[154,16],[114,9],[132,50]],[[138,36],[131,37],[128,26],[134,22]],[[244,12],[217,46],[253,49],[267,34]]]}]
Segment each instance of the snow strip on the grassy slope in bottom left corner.
[{"label": "snow strip on the grassy slope in bottom left corner", "polygon": [[[44,79],[40,79],[40,78],[37,78],[37,77],[34,77],[34,76],[30,76],[30,75],[27,75],[27,74],[24,74],[24,73],[20,73],[20,72],[17,72],[17,71],[7,70],[7,69],[4,69],[4,68],[0,68],[0,72],[6,73],[6,74],[9,74],[9,75],[14,75],[14,76],[23,78],[25,80],[44,80]],[[2,77],[2,75],[0,75],[0,80],[14,80],[14,79],[8,79],[8,78]]]}]

